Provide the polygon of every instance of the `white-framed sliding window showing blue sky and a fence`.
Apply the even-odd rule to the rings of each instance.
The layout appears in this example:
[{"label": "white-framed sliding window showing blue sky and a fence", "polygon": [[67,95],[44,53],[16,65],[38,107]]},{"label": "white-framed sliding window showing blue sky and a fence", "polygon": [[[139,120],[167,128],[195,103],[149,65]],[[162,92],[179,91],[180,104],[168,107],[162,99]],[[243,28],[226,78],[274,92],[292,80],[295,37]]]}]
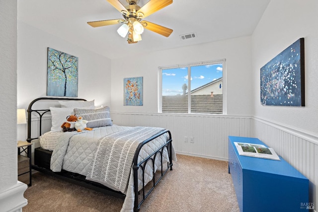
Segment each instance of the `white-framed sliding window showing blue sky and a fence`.
[{"label": "white-framed sliding window showing blue sky and a fence", "polygon": [[160,67],[159,112],[223,114],[224,66],[225,60]]}]

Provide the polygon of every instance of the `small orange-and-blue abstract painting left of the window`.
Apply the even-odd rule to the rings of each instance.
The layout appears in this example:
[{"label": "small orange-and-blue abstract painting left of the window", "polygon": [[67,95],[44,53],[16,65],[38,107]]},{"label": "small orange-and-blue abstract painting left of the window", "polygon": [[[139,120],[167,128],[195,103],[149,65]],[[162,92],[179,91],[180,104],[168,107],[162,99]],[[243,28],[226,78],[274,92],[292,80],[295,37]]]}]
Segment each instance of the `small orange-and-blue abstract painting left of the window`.
[{"label": "small orange-and-blue abstract painting left of the window", "polygon": [[124,78],[124,106],[143,105],[143,77]]}]

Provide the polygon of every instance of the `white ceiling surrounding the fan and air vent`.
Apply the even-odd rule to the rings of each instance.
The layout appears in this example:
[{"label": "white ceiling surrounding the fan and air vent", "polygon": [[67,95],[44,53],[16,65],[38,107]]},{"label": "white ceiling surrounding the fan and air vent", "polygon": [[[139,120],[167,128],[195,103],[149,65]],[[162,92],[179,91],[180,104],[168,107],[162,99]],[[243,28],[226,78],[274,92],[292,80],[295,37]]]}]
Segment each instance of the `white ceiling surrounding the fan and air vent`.
[{"label": "white ceiling surrounding the fan and air vent", "polygon": [[[126,5],[126,0],[120,0]],[[140,6],[148,0],[140,0]],[[173,0],[145,20],[173,29],[169,37],[145,30],[128,44],[120,24],[96,27],[87,21],[122,18],[107,0],[18,0],[18,20],[109,59],[251,35],[270,0]],[[181,40],[195,32],[197,37]]]}]

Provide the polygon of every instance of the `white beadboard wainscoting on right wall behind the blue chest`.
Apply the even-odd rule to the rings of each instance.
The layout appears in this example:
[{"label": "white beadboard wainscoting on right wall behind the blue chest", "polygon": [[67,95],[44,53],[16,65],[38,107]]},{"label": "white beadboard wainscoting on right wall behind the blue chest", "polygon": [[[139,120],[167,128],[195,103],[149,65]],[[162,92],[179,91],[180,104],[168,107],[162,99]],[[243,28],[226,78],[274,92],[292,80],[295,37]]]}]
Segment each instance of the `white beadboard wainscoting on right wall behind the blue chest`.
[{"label": "white beadboard wainscoting on right wall behind the blue chest", "polygon": [[[257,137],[310,180],[310,202],[318,208],[318,137],[289,126],[253,118],[252,137]],[[292,186],[292,185],[291,185]]]}]

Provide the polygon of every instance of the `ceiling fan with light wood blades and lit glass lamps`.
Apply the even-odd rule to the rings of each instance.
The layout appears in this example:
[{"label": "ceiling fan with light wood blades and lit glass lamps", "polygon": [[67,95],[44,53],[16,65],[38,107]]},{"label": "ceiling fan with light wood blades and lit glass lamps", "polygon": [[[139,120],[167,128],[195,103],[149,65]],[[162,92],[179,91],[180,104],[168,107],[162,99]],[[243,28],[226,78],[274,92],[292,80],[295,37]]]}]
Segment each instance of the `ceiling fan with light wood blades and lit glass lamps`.
[{"label": "ceiling fan with light wood blades and lit glass lamps", "polygon": [[141,41],[141,34],[144,28],[156,32],[165,37],[169,37],[172,29],[160,26],[158,24],[142,20],[148,15],[162,9],[172,3],[172,0],[149,0],[144,6],[138,6],[139,0],[126,0],[128,5],[124,6],[119,0],[107,0],[118,11],[120,11],[124,19],[112,19],[101,21],[87,22],[92,27],[107,26],[122,23],[117,30],[118,34],[123,38],[128,34],[128,43],[137,43]]}]

